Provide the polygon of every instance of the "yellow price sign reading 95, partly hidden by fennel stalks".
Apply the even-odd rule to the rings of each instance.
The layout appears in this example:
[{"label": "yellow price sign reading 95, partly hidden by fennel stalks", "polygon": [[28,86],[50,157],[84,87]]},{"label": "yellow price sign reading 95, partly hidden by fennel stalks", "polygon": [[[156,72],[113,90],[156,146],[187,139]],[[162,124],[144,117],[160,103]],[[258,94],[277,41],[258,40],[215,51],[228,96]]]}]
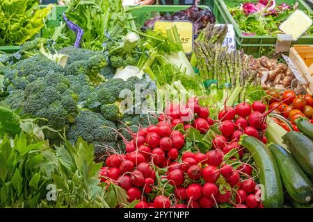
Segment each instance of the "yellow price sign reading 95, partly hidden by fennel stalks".
[{"label": "yellow price sign reading 95, partly hidden by fennel stalks", "polygon": [[166,34],[166,29],[175,25],[182,41],[184,52],[191,54],[193,51],[193,23],[190,21],[157,21],[154,23],[154,30],[161,31]]}]

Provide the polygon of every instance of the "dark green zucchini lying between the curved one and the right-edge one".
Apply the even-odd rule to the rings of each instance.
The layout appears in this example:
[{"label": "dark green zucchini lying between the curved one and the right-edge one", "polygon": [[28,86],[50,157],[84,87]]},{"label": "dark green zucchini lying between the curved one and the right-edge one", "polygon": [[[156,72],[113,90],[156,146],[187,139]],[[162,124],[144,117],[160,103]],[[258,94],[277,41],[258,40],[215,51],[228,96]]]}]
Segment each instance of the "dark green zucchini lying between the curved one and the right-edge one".
[{"label": "dark green zucchini lying between the curved one and the right-edge one", "polygon": [[270,144],[268,148],[275,157],[288,194],[300,203],[309,203],[313,198],[313,185],[294,157],[277,144]]}]

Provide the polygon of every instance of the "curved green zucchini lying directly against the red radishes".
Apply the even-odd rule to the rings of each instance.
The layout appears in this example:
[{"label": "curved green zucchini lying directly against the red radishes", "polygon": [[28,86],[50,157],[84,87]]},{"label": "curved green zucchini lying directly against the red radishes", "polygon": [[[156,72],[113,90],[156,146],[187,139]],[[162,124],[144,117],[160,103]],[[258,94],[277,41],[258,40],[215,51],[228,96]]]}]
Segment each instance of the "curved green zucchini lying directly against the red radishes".
[{"label": "curved green zucchini lying directly against the red radishes", "polygon": [[264,207],[282,207],[284,202],[282,181],[280,180],[280,171],[271,151],[259,139],[247,135],[241,136],[239,144],[252,153],[252,158],[257,168],[259,168],[259,182],[265,188],[264,200],[262,200]]}]

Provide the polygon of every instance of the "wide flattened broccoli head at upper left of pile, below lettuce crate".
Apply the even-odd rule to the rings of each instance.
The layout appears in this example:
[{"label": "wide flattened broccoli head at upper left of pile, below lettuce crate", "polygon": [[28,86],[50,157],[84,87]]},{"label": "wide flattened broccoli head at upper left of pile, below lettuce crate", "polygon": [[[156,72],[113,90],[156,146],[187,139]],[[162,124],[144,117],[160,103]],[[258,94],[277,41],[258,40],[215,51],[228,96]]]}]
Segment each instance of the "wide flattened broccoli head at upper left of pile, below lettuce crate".
[{"label": "wide flattened broccoli head at upper left of pile, below lettuce crate", "polygon": [[38,54],[25,60],[20,60],[13,67],[6,68],[4,71],[5,89],[26,89],[26,86],[33,80],[44,77],[47,74],[60,73],[64,71],[61,65],[49,60],[46,56]]}]

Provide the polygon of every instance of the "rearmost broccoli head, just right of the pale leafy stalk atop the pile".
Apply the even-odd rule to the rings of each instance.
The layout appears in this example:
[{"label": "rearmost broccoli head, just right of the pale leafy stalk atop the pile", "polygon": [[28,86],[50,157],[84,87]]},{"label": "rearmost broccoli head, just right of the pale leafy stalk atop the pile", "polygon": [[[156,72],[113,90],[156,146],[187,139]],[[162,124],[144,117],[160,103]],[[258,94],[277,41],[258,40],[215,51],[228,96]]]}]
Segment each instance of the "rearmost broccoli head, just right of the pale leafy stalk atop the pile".
[{"label": "rearmost broccoli head, just right of the pale leafy stalk atop the pile", "polygon": [[69,56],[65,66],[67,75],[77,76],[78,74],[85,74],[89,76],[95,86],[104,81],[104,76],[100,74],[100,70],[107,65],[104,53],[78,49],[74,46],[66,47],[60,53]]}]

